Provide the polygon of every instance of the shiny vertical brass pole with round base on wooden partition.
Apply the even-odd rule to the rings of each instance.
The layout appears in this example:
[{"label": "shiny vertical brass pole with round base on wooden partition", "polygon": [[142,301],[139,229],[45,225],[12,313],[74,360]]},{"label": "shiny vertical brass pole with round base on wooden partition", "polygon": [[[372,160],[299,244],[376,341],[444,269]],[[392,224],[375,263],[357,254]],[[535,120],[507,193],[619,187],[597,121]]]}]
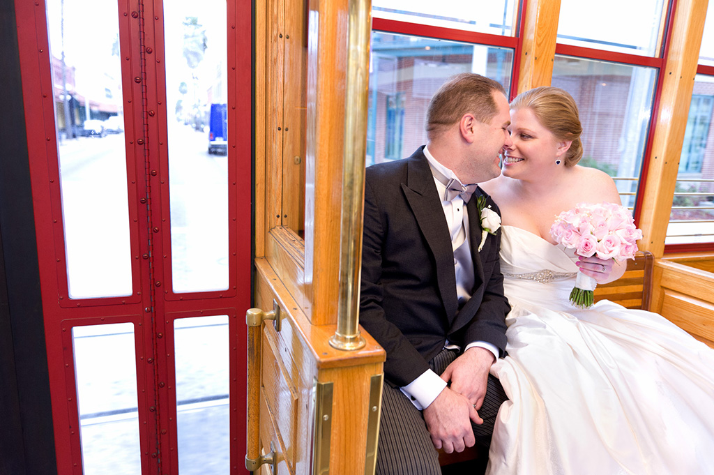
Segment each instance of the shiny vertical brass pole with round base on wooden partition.
[{"label": "shiny vertical brass pole with round base on wooden partition", "polygon": [[359,284],[362,263],[364,168],[367,142],[371,0],[349,0],[345,131],[343,141],[340,283],[336,349],[356,350],[366,342],[359,334]]}]

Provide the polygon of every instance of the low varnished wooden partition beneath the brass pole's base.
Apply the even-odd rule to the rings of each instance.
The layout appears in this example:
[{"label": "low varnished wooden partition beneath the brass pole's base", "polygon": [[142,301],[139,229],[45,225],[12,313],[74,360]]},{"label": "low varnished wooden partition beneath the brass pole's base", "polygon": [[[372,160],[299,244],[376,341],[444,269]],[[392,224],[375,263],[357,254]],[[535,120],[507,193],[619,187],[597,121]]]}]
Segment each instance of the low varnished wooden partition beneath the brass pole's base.
[{"label": "low varnished wooden partition beneath the brass pole's base", "polygon": [[311,324],[267,259],[256,259],[256,269],[256,306],[269,310],[274,300],[282,315],[280,331],[271,321],[263,327],[263,453],[272,440],[281,447],[278,473],[311,473],[313,384],[332,382],[331,473],[363,474],[370,382],[383,372],[383,349],[366,334],[366,347],[359,351],[334,349],[328,340],[336,326]]}]

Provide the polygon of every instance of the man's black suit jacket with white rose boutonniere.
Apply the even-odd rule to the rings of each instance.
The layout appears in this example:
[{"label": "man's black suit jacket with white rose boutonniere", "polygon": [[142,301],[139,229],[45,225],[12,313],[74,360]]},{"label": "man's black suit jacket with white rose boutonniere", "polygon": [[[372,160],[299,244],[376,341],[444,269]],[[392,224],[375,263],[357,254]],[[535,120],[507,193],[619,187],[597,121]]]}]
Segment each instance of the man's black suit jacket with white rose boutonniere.
[{"label": "man's black suit jacket with white rose boutonniere", "polygon": [[446,339],[462,349],[488,341],[504,354],[511,307],[498,260],[501,230],[477,251],[481,194],[477,189],[467,206],[475,279],[460,310],[451,236],[423,146],[408,159],[366,169],[359,318],[386,350],[386,379],[396,386],[429,369]]}]

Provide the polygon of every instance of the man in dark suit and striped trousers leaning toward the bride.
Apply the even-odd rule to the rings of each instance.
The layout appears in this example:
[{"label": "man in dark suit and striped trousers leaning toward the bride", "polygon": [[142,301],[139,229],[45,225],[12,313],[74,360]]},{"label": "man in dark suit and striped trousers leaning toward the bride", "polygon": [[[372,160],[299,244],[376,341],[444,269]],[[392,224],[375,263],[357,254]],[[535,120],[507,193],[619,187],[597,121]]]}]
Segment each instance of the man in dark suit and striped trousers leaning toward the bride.
[{"label": "man in dark suit and striped trousers leaning toward the bride", "polygon": [[378,474],[439,475],[435,447],[491,442],[510,306],[478,197],[491,223],[498,207],[476,184],[501,173],[510,121],[501,84],[459,74],[431,99],[426,146],[366,170],[360,323],[387,353]]}]

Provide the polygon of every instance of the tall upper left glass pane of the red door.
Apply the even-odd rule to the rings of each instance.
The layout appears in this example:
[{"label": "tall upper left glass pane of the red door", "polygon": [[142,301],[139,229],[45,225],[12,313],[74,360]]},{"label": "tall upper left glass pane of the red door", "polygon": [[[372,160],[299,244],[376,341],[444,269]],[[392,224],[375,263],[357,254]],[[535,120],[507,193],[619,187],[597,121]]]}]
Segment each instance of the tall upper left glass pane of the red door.
[{"label": "tall upper left glass pane of the red door", "polygon": [[131,294],[118,15],[111,1],[47,2],[72,299]]}]

